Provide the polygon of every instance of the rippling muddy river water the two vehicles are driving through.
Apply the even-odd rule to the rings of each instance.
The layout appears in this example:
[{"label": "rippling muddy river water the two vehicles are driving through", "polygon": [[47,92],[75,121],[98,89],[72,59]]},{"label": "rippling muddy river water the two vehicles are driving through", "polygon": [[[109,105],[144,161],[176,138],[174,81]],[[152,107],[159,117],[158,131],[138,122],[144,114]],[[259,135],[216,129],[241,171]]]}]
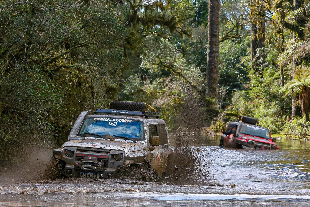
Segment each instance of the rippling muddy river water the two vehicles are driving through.
[{"label": "rippling muddy river water the two vehicles are driving through", "polygon": [[[184,171],[186,175],[171,173],[157,182],[80,178],[0,181],[0,206],[309,205],[309,141],[277,140],[281,150],[275,151],[220,148],[219,137],[203,142],[206,144],[190,147],[196,163]],[[187,151],[183,153],[188,159]],[[179,168],[175,171],[186,168],[184,163],[182,159],[175,163]]]}]

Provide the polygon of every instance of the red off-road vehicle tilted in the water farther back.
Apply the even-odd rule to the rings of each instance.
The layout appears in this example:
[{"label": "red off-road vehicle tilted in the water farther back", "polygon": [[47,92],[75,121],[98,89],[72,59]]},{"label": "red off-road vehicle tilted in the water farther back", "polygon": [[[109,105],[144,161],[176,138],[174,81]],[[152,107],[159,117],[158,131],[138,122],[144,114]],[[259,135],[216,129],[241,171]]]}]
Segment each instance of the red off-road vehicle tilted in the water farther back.
[{"label": "red off-road vehicle tilted in the water farther back", "polygon": [[271,137],[269,129],[258,125],[258,119],[240,116],[239,122],[229,122],[226,131],[236,125],[230,135],[223,134],[219,146],[239,149],[280,149],[276,139]]}]

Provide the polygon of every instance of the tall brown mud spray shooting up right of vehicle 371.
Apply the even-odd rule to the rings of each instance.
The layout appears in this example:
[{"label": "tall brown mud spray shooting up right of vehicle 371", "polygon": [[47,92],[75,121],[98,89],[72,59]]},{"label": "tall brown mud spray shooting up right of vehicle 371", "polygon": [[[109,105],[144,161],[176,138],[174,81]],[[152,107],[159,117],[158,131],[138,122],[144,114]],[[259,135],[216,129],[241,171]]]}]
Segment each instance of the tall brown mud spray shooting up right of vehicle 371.
[{"label": "tall brown mud spray shooting up right of vehicle 371", "polygon": [[[211,167],[206,160],[208,153],[201,153],[200,147],[206,142],[210,133],[206,129],[206,113],[203,101],[193,92],[189,92],[176,117],[175,128],[170,134],[171,145],[175,154],[168,160],[162,182],[172,182],[181,185],[197,185],[210,183]],[[211,153],[211,152],[210,152]],[[203,160],[203,162],[201,161]]]}]

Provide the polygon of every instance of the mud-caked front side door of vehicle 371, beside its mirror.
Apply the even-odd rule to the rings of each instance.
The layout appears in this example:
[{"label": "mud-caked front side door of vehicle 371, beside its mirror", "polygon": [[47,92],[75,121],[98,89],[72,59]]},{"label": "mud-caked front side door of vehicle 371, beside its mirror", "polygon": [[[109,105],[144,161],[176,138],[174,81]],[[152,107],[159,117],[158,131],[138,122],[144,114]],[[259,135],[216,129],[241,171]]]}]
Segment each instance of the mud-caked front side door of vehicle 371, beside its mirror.
[{"label": "mud-caked front side door of vehicle 371, beside its mirror", "polygon": [[[162,124],[164,125],[164,124]],[[165,125],[164,125],[165,126]],[[164,157],[164,150],[163,146],[165,144],[164,140],[165,137],[161,137],[160,135],[163,135],[162,133],[162,126],[159,124],[149,124],[148,125],[148,139],[149,139],[149,146],[150,148],[154,147],[154,150],[151,151],[152,154],[152,161],[151,166],[154,170],[157,171],[158,176],[161,177],[162,173],[165,170],[165,157]],[[160,137],[160,145],[159,146],[152,146],[152,137],[153,136],[159,136]],[[167,138],[166,138],[167,140]]]}]

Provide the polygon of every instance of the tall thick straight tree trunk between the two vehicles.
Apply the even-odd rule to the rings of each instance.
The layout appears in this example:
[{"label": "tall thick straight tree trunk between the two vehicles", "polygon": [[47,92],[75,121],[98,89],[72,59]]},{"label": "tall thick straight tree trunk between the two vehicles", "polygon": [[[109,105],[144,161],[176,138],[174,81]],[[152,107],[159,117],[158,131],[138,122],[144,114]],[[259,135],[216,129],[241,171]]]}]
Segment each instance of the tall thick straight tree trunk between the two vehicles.
[{"label": "tall thick straight tree trunk between the two vehicles", "polygon": [[218,99],[219,83],[219,0],[209,0],[206,96]]}]

